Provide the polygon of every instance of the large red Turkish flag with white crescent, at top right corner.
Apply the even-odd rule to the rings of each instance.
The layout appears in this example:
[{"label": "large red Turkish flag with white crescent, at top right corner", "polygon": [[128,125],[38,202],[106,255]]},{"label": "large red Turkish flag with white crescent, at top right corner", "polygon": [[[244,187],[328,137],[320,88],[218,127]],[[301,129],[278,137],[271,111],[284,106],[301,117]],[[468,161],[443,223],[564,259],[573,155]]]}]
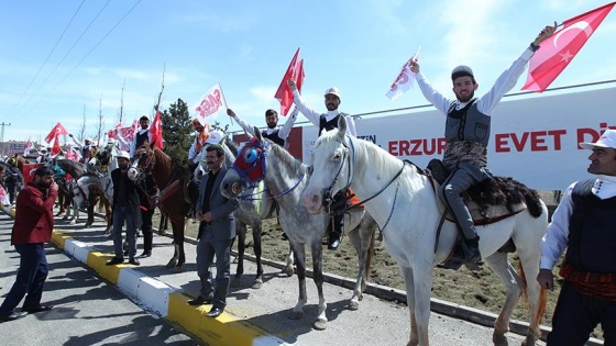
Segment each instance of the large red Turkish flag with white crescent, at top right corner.
[{"label": "large red Turkish flag with white crescent, at top right corner", "polygon": [[528,77],[521,90],[543,92],[571,63],[614,4],[616,2],[564,21],[562,27],[543,41],[541,48],[530,58]]}]

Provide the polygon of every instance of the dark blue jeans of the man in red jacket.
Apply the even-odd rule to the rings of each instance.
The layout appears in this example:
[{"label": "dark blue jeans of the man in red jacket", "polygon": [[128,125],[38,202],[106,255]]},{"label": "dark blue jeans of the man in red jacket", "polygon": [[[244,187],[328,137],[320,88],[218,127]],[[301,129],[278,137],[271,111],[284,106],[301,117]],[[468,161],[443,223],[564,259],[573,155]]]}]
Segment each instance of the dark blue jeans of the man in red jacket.
[{"label": "dark blue jeans of the man in red jacket", "polygon": [[15,245],[15,250],[20,254],[20,268],[15,283],[0,305],[1,317],[13,313],[24,297],[23,309],[34,309],[41,305],[43,284],[50,272],[43,243]]}]

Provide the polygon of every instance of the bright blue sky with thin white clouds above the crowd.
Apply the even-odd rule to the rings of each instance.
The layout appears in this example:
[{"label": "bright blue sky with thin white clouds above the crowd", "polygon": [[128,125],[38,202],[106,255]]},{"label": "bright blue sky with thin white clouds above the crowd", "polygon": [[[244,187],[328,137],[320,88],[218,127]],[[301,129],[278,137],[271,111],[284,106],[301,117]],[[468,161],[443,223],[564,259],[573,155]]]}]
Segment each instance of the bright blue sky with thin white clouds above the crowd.
[{"label": "bright blue sky with thin white clouds above the crowd", "polygon": [[[44,141],[57,122],[76,136],[85,123],[91,137],[99,119],[106,130],[118,124],[121,108],[124,125],[152,118],[164,75],[162,109],[178,99],[191,105],[220,82],[229,108],[264,126],[298,47],[302,97],[323,112],[330,87],[350,114],[426,104],[417,87],[385,97],[419,46],[421,71],[438,90],[453,97],[450,72],[468,65],[481,94],[546,25],[607,2],[2,0],[0,125],[4,141]],[[615,12],[551,87],[616,79]],[[240,130],[226,113],[215,121]]]}]

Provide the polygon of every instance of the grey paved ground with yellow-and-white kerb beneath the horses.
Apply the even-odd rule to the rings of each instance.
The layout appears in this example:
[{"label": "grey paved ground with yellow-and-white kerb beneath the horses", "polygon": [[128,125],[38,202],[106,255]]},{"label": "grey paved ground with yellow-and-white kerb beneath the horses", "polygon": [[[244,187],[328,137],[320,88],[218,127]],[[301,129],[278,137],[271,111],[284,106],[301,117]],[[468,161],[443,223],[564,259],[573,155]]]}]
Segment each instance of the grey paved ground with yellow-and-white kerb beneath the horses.
[{"label": "grey paved ground with yellow-and-white kerb beneath the horses", "polygon": [[[8,292],[16,269],[18,256],[9,246],[11,225],[12,221],[8,216],[0,216],[2,297]],[[317,293],[311,280],[307,284],[309,298],[304,317],[288,319],[297,300],[296,277],[287,278],[275,265],[266,266],[263,288],[251,289],[250,274],[255,272],[255,266],[251,261],[246,264],[246,275],[239,287],[233,287],[230,291],[226,313],[212,324],[212,319],[202,316],[209,306],[195,309],[186,304],[186,300],[195,297],[199,290],[194,245],[186,245],[187,265],[184,271],[175,272],[165,268],[173,254],[169,238],[155,236],[154,256],[143,259],[141,267],[118,269],[118,275],[109,274],[106,271],[109,267],[100,266],[112,256],[112,242],[102,235],[101,222],[95,223],[92,228],[84,230],[56,220],[56,228],[62,233],[63,239],[69,239],[62,247],[69,254],[74,252],[73,256],[90,264],[94,270],[84,268],[80,261],[50,246],[51,275],[45,287],[44,302],[57,308],[46,314],[0,324],[2,341],[21,345],[194,344],[188,336],[165,322],[170,320],[179,322],[191,335],[199,335],[212,345],[406,345],[408,342],[409,317],[406,305],[364,294],[360,310],[349,311],[345,306],[351,291],[331,283],[324,284],[329,319],[326,331],[312,328],[317,315]],[[87,253],[82,255],[85,250]],[[231,269],[234,271],[235,266],[232,265]],[[146,298],[142,298],[144,301],[141,301],[141,305],[165,319],[144,312],[97,275],[110,277],[108,280],[111,282],[116,282],[116,276],[114,278],[119,278],[118,286],[123,287],[127,294],[138,297],[138,300],[140,294],[135,293],[136,287],[153,280],[155,283],[152,284],[167,294],[166,298],[157,299],[166,301],[145,301],[152,299],[148,297],[162,297],[147,293]],[[122,277],[129,278],[128,282],[136,282],[136,287],[120,283]],[[165,308],[156,308],[162,303]],[[248,343],[230,342],[229,335],[239,334],[240,330],[258,335],[251,336],[252,342]],[[231,334],[226,334],[228,331]],[[431,345],[492,345],[492,332],[490,327],[438,313],[432,313],[430,319]],[[517,334],[509,333],[507,336],[510,345],[519,345],[522,341]]]}]

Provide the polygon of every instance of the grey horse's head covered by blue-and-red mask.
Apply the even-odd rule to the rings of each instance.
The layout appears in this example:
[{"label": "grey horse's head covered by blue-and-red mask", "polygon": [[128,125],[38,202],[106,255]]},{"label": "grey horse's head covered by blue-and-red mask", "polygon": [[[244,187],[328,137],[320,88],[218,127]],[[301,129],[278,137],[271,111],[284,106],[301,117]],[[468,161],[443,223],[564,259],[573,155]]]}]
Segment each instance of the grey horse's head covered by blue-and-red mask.
[{"label": "grey horse's head covered by blue-and-red mask", "polygon": [[245,189],[254,187],[265,178],[265,153],[270,145],[261,132],[252,137],[238,153],[235,161],[221,183],[221,193],[228,198],[238,198]]}]

